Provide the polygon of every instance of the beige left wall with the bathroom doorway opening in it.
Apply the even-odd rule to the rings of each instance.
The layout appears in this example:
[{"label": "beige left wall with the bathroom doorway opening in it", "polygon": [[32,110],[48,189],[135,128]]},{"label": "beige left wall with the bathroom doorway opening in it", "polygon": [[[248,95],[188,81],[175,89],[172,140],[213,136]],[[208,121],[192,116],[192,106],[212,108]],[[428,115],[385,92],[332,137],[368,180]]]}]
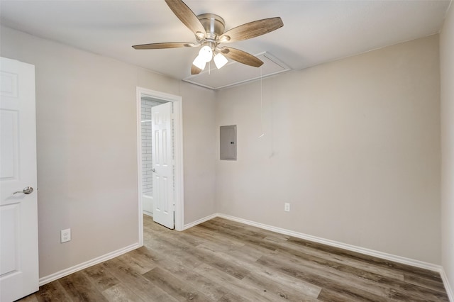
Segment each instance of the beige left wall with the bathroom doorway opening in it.
[{"label": "beige left wall with the bathroom doorway opening in it", "polygon": [[[40,277],[138,242],[136,86],[183,97],[184,181],[214,176],[214,157],[194,155],[214,145],[197,135],[212,115],[193,108],[211,91],[9,28],[1,56],[35,65]],[[184,223],[214,213],[213,190],[184,198]],[[65,228],[72,241],[60,244]]]}]

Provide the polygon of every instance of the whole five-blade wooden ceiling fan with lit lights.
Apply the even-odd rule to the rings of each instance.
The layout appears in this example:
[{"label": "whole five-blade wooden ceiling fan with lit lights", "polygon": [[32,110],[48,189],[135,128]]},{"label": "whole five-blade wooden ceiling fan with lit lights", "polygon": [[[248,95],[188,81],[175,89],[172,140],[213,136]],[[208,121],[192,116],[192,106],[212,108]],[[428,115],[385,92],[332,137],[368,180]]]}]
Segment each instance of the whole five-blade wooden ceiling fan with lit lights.
[{"label": "whole five-blade wooden ceiling fan with lit lights", "polygon": [[136,50],[153,50],[176,47],[201,47],[199,55],[192,62],[191,74],[199,74],[206,63],[214,60],[218,69],[226,65],[227,58],[245,65],[260,67],[263,62],[248,52],[233,47],[219,47],[221,43],[231,43],[270,33],[284,26],[280,17],[266,18],[232,28],[224,32],[226,23],[214,13],[202,13],[196,16],[182,0],[165,0],[182,23],[196,36],[196,43],[150,43],[134,45]]}]

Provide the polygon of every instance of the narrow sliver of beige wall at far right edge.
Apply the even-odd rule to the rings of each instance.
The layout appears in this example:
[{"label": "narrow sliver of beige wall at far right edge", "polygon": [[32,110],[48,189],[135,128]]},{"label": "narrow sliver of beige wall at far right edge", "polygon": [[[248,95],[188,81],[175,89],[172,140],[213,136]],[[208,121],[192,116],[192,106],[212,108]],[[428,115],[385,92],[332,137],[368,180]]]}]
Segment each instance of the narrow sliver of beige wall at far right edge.
[{"label": "narrow sliver of beige wall at far right edge", "polygon": [[[454,9],[440,35],[441,72],[441,254],[454,290]],[[453,294],[453,293],[451,293]]]}]

